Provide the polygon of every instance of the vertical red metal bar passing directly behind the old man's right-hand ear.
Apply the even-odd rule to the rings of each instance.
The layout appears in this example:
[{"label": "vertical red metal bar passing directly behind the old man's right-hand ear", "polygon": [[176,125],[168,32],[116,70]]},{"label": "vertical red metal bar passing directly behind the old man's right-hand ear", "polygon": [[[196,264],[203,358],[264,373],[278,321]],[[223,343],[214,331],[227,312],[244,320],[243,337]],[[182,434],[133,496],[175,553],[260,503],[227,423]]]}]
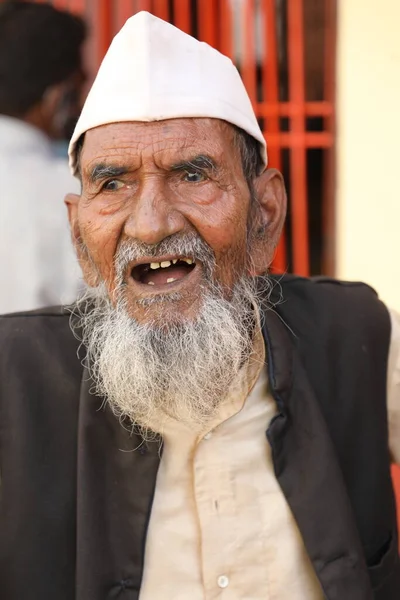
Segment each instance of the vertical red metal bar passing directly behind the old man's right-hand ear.
[{"label": "vertical red metal bar passing directly behind the old man's right-hand ear", "polygon": [[[279,73],[278,73],[278,41],[276,36],[276,12],[275,0],[263,0],[262,4],[264,16],[264,39],[266,42],[264,64],[263,64],[263,99],[264,102],[257,105],[257,116],[266,116],[268,111],[276,108],[276,114],[270,113],[265,127],[264,134],[268,143],[268,159],[269,164],[276,169],[282,169],[280,145],[280,123],[279,123]],[[266,102],[265,102],[266,101]],[[276,145],[269,144],[269,134],[277,136],[278,143]],[[286,232],[283,230],[281,239],[276,249],[272,268],[279,272],[287,270],[286,256]]]}]

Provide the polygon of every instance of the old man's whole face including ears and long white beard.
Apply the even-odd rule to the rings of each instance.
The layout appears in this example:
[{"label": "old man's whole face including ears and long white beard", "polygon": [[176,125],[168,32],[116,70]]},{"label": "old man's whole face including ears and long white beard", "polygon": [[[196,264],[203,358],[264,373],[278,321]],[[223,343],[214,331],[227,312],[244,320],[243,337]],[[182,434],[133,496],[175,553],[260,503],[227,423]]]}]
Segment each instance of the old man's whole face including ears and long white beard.
[{"label": "old man's whole face including ears and long white beard", "polygon": [[285,197],[269,170],[251,199],[239,154],[215,119],[85,136],[82,194],[66,201],[94,289],[73,326],[92,389],[144,430],[162,432],[168,418],[202,430],[250,356],[254,276],[271,260]]}]

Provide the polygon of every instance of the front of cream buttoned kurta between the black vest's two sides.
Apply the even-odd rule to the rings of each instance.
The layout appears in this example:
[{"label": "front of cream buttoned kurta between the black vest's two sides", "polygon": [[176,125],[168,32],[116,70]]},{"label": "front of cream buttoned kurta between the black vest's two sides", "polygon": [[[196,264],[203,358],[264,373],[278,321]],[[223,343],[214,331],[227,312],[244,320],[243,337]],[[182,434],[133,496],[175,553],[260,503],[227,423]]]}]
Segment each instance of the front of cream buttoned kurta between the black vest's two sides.
[{"label": "front of cream buttoned kurta between the black vest's two sides", "polygon": [[273,471],[261,333],[256,348],[210,432],[166,425],[140,600],[323,598]]}]

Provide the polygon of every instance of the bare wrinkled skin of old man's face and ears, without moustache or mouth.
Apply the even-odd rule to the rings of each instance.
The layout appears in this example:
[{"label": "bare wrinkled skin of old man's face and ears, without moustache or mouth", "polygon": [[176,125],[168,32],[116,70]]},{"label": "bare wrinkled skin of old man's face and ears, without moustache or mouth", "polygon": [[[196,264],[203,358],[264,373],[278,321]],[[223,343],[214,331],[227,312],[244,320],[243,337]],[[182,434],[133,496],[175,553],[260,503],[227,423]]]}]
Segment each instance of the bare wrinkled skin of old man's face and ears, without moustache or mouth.
[{"label": "bare wrinkled skin of old man's face and ears, without moustache or mouth", "polygon": [[[265,273],[284,222],[284,185],[274,169],[256,178],[255,210],[233,140],[232,127],[206,118],[89,130],[80,158],[82,193],[66,198],[86,282],[94,286],[105,281],[113,298],[114,257],[122,240],[158,244],[183,232],[196,233],[211,247],[215,278],[227,297],[239,276]],[[199,156],[207,164],[203,158],[200,167],[188,164]],[[166,319],[195,317],[202,277],[199,265],[173,284],[179,300],[163,303]],[[130,271],[125,283],[133,318],[146,322],[161,310],[157,304],[145,309],[137,302],[159,291],[137,283]]]}]

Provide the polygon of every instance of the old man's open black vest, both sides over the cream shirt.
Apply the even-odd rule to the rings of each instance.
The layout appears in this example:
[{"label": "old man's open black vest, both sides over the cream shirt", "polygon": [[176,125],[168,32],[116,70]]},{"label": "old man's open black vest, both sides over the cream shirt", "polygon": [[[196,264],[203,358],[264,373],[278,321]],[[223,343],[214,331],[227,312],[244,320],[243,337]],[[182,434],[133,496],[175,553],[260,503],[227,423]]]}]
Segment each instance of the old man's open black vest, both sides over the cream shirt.
[{"label": "old man's open black vest, both sides over the cream shirt", "polygon": [[[272,303],[266,435],[324,596],[398,600],[387,310],[367,286],[288,276]],[[158,445],[132,451],[77,349],[61,309],[0,321],[2,600],[139,597]]]}]

